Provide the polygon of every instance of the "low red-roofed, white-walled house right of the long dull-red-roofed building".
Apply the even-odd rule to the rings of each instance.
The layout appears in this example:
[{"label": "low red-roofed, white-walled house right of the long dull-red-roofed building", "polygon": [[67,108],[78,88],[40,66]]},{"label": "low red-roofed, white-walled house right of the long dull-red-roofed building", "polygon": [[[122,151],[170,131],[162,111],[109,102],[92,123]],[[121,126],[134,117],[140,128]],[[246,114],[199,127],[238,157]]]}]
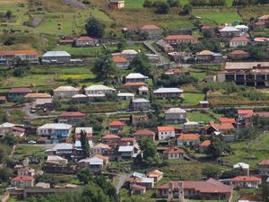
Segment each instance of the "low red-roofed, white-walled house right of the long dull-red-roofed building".
[{"label": "low red-roofed, white-walled house right of the long dull-red-roofed building", "polygon": [[230,185],[233,188],[250,188],[258,189],[259,185],[262,183],[262,179],[256,176],[237,176],[230,179]]}]

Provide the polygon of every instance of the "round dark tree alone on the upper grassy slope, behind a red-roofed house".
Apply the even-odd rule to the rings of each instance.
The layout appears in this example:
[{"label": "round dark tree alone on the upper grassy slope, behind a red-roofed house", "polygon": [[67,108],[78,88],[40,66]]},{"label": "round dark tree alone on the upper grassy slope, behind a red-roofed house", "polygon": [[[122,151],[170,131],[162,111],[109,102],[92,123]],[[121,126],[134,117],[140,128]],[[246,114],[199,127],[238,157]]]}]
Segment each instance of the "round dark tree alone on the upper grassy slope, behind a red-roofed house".
[{"label": "round dark tree alone on the upper grassy slope, behind a red-roofed house", "polygon": [[88,19],[85,29],[89,37],[101,38],[105,34],[105,25],[93,17]]}]

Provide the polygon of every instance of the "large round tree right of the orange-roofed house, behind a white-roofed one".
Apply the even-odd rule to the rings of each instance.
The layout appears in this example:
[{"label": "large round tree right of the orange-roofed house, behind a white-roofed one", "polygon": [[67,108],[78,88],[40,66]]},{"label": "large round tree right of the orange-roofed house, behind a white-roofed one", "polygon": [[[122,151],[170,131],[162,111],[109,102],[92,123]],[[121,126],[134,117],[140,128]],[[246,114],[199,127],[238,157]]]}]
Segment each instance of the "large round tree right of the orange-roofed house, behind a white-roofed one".
[{"label": "large round tree right of the orange-roofed house, behind a white-roofed one", "polygon": [[152,73],[151,62],[149,58],[143,53],[138,54],[136,57],[134,57],[130,67],[134,68],[135,72],[141,73],[143,75],[151,75]]}]

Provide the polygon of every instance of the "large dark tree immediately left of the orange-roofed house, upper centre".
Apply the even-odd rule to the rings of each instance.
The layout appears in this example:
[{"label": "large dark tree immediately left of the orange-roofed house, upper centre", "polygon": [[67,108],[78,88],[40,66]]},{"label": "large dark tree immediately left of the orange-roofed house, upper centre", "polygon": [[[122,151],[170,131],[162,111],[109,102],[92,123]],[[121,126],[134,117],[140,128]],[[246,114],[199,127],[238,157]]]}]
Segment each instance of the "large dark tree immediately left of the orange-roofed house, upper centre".
[{"label": "large dark tree immediately left of the orange-roofed house, upper centre", "polygon": [[117,69],[111,55],[105,54],[99,57],[94,63],[92,72],[98,75],[99,79],[108,79],[116,75]]}]

